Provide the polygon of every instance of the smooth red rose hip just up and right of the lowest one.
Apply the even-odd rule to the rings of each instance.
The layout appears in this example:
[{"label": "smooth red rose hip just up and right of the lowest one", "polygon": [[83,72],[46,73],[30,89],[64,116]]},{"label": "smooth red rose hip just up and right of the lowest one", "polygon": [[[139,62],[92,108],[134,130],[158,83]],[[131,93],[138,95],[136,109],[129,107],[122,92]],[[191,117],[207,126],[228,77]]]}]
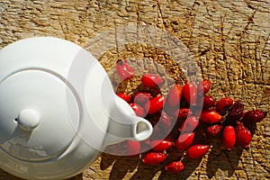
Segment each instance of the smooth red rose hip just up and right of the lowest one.
[{"label": "smooth red rose hip just up and right of the lowest one", "polygon": [[203,157],[209,148],[209,145],[196,144],[187,149],[186,155],[189,158]]}]

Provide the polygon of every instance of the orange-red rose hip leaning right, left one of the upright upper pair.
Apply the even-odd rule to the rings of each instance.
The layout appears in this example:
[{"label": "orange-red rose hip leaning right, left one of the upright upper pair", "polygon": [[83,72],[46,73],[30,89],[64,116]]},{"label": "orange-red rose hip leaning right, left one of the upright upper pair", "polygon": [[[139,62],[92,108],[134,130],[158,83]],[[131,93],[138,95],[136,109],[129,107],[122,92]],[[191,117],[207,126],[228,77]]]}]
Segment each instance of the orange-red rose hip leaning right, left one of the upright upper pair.
[{"label": "orange-red rose hip leaning right, left one of the upright upper pair", "polygon": [[179,106],[182,97],[182,85],[175,84],[168,94],[168,103],[171,107]]}]

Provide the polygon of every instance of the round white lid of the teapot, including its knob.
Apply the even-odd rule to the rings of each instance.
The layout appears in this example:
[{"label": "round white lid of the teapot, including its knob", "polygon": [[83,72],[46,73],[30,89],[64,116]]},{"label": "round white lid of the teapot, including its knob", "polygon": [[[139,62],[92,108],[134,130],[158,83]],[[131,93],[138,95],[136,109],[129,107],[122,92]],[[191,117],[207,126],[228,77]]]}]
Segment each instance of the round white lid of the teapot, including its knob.
[{"label": "round white lid of the teapot, including its knob", "polygon": [[[0,60],[9,55],[24,60],[14,54],[0,53]],[[0,79],[0,103],[0,150],[8,156],[48,160],[63,153],[76,137],[80,121],[76,94],[48,69],[21,68]]]}]

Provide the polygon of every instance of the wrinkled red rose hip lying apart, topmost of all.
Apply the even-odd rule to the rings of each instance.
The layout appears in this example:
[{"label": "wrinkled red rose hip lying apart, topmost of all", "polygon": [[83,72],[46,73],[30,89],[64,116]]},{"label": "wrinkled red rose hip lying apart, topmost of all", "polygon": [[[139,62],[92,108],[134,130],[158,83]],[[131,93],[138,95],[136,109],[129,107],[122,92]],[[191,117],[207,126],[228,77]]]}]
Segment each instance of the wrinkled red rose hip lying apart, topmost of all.
[{"label": "wrinkled red rose hip lying apart, topmost of all", "polygon": [[127,80],[134,76],[134,70],[130,65],[123,60],[119,59],[116,61],[116,71],[121,77],[121,80]]}]

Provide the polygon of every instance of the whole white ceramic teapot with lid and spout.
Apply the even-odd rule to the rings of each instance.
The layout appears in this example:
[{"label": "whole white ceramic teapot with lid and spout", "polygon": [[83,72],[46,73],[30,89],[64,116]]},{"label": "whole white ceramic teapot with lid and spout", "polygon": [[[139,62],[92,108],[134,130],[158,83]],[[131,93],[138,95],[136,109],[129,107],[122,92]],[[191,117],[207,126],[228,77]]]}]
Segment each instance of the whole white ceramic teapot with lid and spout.
[{"label": "whole white ceramic teapot with lid and spout", "polygon": [[76,175],[106,146],[152,133],[114,93],[101,64],[57,38],[0,50],[0,103],[0,167],[26,179]]}]

